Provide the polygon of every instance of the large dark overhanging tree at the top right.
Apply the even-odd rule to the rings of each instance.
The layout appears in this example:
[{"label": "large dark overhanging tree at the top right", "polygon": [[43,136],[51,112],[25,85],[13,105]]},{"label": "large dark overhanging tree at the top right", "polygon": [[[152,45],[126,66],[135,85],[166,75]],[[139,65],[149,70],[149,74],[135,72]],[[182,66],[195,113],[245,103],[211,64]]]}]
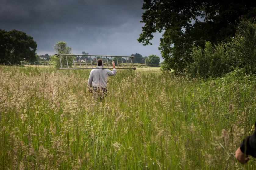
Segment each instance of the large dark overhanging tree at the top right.
[{"label": "large dark overhanging tree at the top right", "polygon": [[151,44],[155,32],[162,32],[159,50],[164,69],[183,71],[192,62],[192,45],[229,41],[236,32],[239,18],[256,16],[255,1],[210,0],[144,0],[142,33],[143,45]]}]

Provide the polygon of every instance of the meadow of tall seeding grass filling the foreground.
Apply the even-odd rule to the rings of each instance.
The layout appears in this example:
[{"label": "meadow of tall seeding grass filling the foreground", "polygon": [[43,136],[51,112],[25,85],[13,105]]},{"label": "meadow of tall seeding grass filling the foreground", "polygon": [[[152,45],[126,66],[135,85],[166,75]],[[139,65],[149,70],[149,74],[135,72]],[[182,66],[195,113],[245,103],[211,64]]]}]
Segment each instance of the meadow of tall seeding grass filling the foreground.
[{"label": "meadow of tall seeding grass filling the foreground", "polygon": [[0,169],[256,169],[256,76],[117,70],[94,101],[90,70],[0,66]]}]

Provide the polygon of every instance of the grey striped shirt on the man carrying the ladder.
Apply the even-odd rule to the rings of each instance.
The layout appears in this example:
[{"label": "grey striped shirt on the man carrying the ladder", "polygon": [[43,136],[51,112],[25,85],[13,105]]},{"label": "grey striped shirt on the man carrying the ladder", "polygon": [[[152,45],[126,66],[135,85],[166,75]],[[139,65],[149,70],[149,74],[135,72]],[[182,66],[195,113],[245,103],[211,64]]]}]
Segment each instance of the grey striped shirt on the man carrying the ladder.
[{"label": "grey striped shirt on the man carrying the ladder", "polygon": [[[103,68],[102,66],[98,66],[96,68]],[[113,69],[112,71],[108,69],[92,69],[88,83],[90,84],[90,87],[107,87],[107,78],[108,76],[114,76],[116,75],[116,69]]]}]

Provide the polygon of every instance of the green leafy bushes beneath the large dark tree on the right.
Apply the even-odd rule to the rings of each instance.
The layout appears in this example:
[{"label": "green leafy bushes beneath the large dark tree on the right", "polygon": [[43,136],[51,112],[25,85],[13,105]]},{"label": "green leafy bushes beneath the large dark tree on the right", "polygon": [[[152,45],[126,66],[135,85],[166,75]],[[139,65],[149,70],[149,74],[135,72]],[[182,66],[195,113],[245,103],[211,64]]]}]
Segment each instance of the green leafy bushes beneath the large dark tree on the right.
[{"label": "green leafy bushes beneath the large dark tree on the right", "polygon": [[191,77],[221,77],[235,68],[244,68],[248,73],[256,73],[256,24],[242,20],[236,36],[231,42],[212,46],[206,42],[204,49],[192,48],[194,61],[187,66]]}]

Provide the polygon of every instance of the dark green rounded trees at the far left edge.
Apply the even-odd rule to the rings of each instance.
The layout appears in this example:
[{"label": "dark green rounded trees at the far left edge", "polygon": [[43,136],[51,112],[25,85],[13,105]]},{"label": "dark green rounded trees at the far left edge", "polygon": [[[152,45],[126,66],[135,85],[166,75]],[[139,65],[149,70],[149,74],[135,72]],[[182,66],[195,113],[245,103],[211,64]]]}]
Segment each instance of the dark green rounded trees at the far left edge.
[{"label": "dark green rounded trees at the far left edge", "polygon": [[25,32],[0,29],[0,64],[36,63],[37,43]]}]

